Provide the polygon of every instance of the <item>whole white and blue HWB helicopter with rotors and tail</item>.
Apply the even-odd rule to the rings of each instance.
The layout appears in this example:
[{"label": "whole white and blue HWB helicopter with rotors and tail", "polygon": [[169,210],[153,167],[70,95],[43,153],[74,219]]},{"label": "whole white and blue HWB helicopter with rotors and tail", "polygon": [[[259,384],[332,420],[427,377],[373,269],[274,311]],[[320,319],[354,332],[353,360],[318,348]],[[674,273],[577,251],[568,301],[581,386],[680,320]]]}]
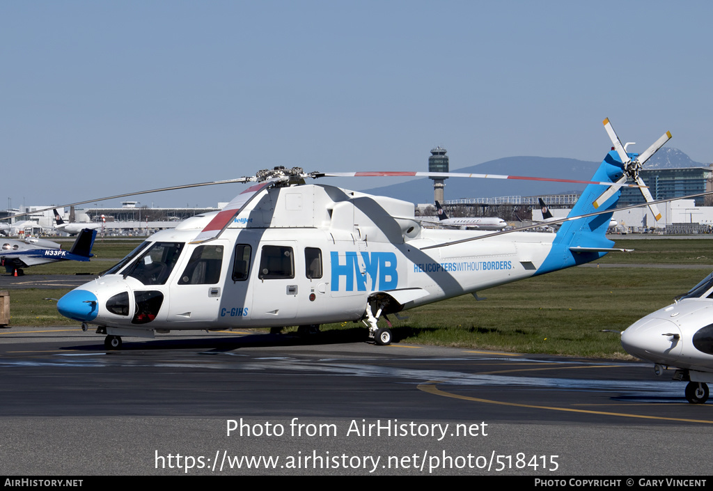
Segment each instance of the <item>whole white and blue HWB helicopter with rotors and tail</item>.
[{"label": "whole white and blue HWB helicopter with rotors and tail", "polygon": [[[642,155],[650,157],[668,138]],[[558,220],[558,233],[427,229],[414,217],[413,203],[305,183],[329,176],[522,176],[279,167],[216,181],[251,186],[222,211],[155,233],[101,277],[64,295],[57,308],[83,330],[98,326],[108,350],[120,349],[123,336],[154,338],[171,330],[297,325],[310,332],[349,320],[364,323],[376,345],[389,345],[390,328],[378,324],[384,318],[390,326],[388,315],[465,293],[478,298],[478,290],[622,250],[605,238],[619,190],[645,189],[626,183],[637,181],[645,158],[624,155],[610,151],[593,181],[575,181],[587,187],[570,215]],[[650,193],[644,196],[652,205]]]}]

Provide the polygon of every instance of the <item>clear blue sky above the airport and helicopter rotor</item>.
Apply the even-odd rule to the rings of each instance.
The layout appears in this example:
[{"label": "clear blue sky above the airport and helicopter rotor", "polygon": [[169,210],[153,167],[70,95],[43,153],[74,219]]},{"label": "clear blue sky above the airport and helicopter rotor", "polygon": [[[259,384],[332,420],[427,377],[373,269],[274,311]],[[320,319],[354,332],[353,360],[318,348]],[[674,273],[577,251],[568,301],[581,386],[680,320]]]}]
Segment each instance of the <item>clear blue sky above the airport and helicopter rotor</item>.
[{"label": "clear blue sky above the airport and helicopter rotor", "polygon": [[[276,165],[421,171],[436,145],[451,169],[600,161],[605,117],[635,151],[670,130],[668,146],[711,162],[712,14],[704,1],[0,1],[0,207]],[[136,199],[215,206],[242,189]]]}]

